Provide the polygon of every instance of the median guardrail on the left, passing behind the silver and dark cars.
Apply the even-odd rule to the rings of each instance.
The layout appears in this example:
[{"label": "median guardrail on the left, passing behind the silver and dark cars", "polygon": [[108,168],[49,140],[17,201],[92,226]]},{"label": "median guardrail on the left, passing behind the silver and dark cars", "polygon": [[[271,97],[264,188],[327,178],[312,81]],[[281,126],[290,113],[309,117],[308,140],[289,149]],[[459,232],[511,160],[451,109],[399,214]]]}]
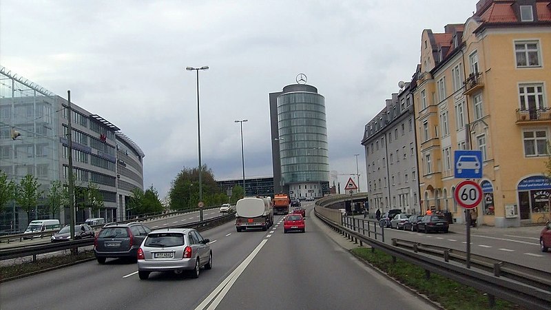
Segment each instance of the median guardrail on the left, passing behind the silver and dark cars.
[{"label": "median guardrail on the left, passing behind the silver and dark cars", "polygon": [[[223,223],[230,222],[231,220],[235,220],[235,218],[235,215],[233,213],[230,213],[225,216],[209,218],[208,220],[203,220],[202,222],[171,225],[163,228],[194,228],[198,231],[203,231],[206,229],[210,229],[211,227],[216,227]],[[32,261],[36,262],[37,255],[39,254],[52,253],[55,251],[63,251],[67,249],[72,250],[73,253],[78,253],[79,247],[89,247],[90,245],[94,245],[94,239],[92,238],[55,242],[46,245],[28,245],[25,247],[14,247],[10,249],[0,250],[0,260],[9,260],[12,258],[32,256]]]}]

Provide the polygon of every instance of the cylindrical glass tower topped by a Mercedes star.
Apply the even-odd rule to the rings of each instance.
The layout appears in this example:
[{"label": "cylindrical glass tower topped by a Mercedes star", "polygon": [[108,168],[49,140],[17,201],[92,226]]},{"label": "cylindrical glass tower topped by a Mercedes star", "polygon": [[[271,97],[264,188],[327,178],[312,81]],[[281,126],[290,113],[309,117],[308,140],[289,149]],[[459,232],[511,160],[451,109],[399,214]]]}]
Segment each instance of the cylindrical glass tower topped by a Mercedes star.
[{"label": "cylindrical glass tower topped by a Mercedes star", "polygon": [[[306,76],[299,76],[306,83]],[[297,83],[270,93],[269,101],[275,192],[291,198],[329,193],[324,96],[311,85]]]}]

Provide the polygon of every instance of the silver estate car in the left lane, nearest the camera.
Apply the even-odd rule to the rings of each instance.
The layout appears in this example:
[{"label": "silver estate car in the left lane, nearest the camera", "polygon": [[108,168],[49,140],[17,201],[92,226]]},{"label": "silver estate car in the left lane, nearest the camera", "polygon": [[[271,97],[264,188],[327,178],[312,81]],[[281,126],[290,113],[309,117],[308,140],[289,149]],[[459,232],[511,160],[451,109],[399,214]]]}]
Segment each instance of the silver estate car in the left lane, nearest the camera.
[{"label": "silver estate car in the left lane, nearest the camera", "polygon": [[191,228],[151,231],[138,249],[138,276],[147,280],[153,271],[189,271],[192,278],[198,278],[201,267],[212,269],[209,242]]}]

